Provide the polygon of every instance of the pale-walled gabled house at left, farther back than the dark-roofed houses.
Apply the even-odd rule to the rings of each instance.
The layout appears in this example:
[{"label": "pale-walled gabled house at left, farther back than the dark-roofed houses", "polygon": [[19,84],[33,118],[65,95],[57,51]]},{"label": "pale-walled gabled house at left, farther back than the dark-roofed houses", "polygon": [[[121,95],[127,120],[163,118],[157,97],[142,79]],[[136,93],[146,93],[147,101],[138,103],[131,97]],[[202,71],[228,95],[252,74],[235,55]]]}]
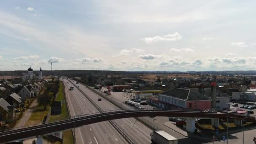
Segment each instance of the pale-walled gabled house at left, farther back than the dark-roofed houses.
[{"label": "pale-walled gabled house at left, farther back than the dark-roofed houses", "polygon": [[38,94],[38,88],[36,88],[34,85],[25,85],[18,93],[21,98],[29,99],[34,96],[37,96]]}]

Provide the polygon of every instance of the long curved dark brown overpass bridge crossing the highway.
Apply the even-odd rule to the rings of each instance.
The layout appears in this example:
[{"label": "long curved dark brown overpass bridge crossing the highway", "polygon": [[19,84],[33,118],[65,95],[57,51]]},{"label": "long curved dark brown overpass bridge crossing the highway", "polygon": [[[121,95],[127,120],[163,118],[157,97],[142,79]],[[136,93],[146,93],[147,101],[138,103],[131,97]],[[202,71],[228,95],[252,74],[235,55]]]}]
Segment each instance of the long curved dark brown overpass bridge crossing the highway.
[{"label": "long curved dark brown overpass bridge crossing the highway", "polygon": [[[37,144],[42,144],[42,136],[64,131],[83,125],[98,123],[107,120],[122,119],[128,117],[187,117],[188,125],[194,125],[196,118],[227,118],[227,113],[218,112],[197,112],[197,111],[180,111],[164,109],[144,109],[144,110],[116,110],[110,112],[89,114],[76,117],[74,119],[62,120],[54,123],[35,125],[31,127],[22,127],[18,129],[0,131],[0,143],[9,141],[19,141],[27,138],[37,137]],[[230,115],[230,117],[243,119],[242,116]],[[187,126],[188,127],[188,126]]]}]

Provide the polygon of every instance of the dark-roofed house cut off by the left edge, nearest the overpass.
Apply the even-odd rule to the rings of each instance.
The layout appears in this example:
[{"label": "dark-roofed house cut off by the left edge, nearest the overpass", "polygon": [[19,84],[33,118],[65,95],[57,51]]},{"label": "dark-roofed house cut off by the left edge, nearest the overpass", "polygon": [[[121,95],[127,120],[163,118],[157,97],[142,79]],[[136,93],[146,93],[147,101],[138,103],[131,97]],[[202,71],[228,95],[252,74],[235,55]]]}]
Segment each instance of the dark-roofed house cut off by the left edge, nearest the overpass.
[{"label": "dark-roofed house cut off by the left edge, nearest the overpass", "polygon": [[0,120],[12,120],[14,107],[5,99],[0,99]]}]

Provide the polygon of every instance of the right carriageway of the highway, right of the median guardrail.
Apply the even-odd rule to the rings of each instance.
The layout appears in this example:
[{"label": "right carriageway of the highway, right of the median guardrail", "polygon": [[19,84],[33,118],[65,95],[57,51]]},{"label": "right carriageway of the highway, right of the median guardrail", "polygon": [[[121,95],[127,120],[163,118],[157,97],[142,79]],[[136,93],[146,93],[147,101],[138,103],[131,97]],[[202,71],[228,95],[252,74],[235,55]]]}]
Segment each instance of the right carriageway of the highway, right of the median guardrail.
[{"label": "right carriageway of the highway, right of the median guardrail", "polygon": [[[76,82],[76,81],[75,81]],[[75,84],[75,82],[72,82]],[[69,84],[70,85],[70,84]],[[102,99],[101,101],[98,101],[98,98],[101,98],[99,95],[91,91],[90,89],[86,88],[82,84],[76,84],[79,86],[80,90],[86,93],[93,101],[98,104],[101,109],[104,109],[104,111],[107,110],[114,110],[119,109],[114,104],[110,103],[109,101]],[[151,129],[149,129],[144,124],[140,123],[139,121],[136,121],[135,118],[125,118],[125,119],[119,119],[114,120],[117,125],[122,128],[125,133],[127,133],[127,136],[130,139],[133,139],[138,144],[150,144],[151,143],[151,137],[150,133],[152,132]]]}]

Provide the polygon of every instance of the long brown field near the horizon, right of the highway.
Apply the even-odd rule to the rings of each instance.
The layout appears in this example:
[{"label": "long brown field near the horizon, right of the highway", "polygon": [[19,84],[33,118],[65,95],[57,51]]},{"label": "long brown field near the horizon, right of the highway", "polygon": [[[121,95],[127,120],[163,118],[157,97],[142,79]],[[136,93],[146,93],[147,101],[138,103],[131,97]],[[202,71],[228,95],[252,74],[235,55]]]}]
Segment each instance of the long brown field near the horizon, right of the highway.
[{"label": "long brown field near the horizon, right of the highway", "polygon": [[163,78],[176,78],[176,77],[199,77],[198,75],[190,75],[190,74],[145,74],[145,75],[138,75],[142,80],[145,81],[155,81],[157,80],[157,76],[159,76],[161,79]]}]

